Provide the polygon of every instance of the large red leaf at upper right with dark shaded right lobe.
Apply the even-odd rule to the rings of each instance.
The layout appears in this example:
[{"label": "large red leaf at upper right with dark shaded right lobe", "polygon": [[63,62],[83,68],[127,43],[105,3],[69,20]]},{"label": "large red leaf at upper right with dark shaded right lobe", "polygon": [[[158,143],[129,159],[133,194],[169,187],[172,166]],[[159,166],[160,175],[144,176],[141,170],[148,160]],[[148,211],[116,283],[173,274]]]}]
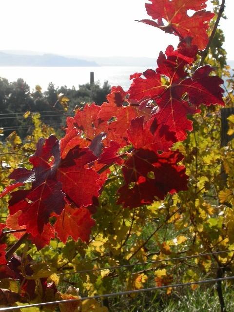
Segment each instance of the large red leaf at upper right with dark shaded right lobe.
[{"label": "large red leaf at upper right with dark shaded right lobe", "polygon": [[[148,69],[143,73],[145,78],[135,78],[129,90],[129,99],[131,100],[140,101],[145,98],[155,100],[156,106],[152,109],[152,114],[156,118],[157,125],[166,126],[164,130],[170,133],[174,132],[177,140],[184,140],[187,137],[186,131],[193,130],[192,121],[187,118],[187,115],[199,112],[198,104],[223,105],[223,89],[219,87],[223,81],[218,77],[208,76],[212,70],[211,67],[203,66],[197,69],[193,78],[183,80],[184,65],[192,61],[193,58],[189,60],[186,59],[186,56],[181,57],[181,51],[189,51],[189,55],[193,55],[193,52],[186,49],[184,45],[176,51],[169,47],[166,52],[168,58],[160,54],[159,67],[156,71]],[[169,75],[169,81],[163,84],[161,74],[166,75],[166,73]],[[181,80],[179,80],[179,76],[181,76]],[[182,100],[186,94],[189,96],[190,103],[188,100]],[[157,108],[158,110],[154,114]]]}]

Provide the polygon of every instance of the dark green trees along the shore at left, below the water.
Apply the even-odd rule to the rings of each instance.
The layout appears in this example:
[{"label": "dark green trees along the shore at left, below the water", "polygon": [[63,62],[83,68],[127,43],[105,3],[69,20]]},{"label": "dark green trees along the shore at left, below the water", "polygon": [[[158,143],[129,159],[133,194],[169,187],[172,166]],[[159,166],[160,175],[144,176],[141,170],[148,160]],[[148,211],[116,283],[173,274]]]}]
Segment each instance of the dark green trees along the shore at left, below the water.
[{"label": "dark green trees along the shore at left, below the water", "polygon": [[[41,112],[41,120],[59,132],[60,126],[66,122],[66,116],[73,114],[75,107],[82,107],[88,102],[96,102],[100,105],[108,93],[110,93],[110,86],[107,81],[103,87],[98,83],[94,85],[87,83],[79,85],[78,90],[68,89],[66,86],[55,88],[51,82],[47,91],[42,93],[39,85],[30,92],[29,86],[23,79],[9,83],[7,79],[1,78],[0,124],[4,129],[3,137],[10,135],[12,130],[17,130],[21,138],[32,133],[33,122],[29,118],[31,115],[26,114],[26,117],[23,115],[27,112]],[[59,97],[61,94],[64,97]],[[65,98],[67,100],[63,101],[62,99]]]}]

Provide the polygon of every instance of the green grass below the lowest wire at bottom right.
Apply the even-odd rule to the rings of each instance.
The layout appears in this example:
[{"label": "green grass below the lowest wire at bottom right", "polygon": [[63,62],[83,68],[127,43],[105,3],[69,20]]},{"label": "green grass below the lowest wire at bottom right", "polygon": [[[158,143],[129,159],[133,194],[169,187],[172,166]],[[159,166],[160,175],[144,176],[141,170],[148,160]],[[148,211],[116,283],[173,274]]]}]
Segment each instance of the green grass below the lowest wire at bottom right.
[{"label": "green grass below the lowest wire at bottom right", "polygon": [[[234,311],[234,287],[226,283],[223,293],[227,311]],[[171,295],[147,292],[135,298],[110,298],[109,312],[220,312],[220,305],[213,285],[198,287],[195,291],[190,287],[178,289]]]}]

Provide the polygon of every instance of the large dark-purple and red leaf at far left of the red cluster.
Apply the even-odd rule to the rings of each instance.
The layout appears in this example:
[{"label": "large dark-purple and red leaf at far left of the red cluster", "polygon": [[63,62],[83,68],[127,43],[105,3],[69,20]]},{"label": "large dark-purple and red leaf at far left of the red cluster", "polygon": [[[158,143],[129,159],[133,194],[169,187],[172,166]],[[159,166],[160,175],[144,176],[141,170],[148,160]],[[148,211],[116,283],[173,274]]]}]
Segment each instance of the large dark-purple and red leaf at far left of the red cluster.
[{"label": "large dark-purple and red leaf at far left of the red cluster", "polygon": [[[75,130],[73,135],[76,134]],[[98,142],[94,143],[97,145]],[[66,139],[63,143],[64,150],[69,140]],[[93,204],[93,198],[99,195],[100,176],[95,170],[88,168],[98,157],[88,148],[69,147],[68,150],[65,158],[61,159],[59,140],[54,136],[46,140],[40,138],[35,154],[30,157],[33,169],[20,169],[12,174],[16,179],[14,187],[18,182],[32,181],[31,189],[11,194],[9,210],[10,215],[22,211],[18,215],[18,226],[26,225],[26,232],[34,238],[37,236],[37,241],[32,239],[39,248],[54,237],[53,228],[48,222],[53,212],[60,215],[64,208],[63,191],[68,200],[73,200],[78,207]],[[44,230],[47,233],[43,232]]]}]

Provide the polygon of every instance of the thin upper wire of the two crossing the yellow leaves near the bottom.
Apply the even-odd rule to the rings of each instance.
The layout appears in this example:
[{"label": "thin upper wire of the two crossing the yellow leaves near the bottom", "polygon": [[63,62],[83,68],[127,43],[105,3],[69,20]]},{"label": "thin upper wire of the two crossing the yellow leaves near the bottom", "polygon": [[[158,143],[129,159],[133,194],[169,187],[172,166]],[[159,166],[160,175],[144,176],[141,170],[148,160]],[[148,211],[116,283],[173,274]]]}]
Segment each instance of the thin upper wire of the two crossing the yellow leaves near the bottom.
[{"label": "thin upper wire of the two crossing the yellow leaves near the bottom", "polygon": [[202,257],[202,256],[207,256],[207,255],[212,255],[212,254],[223,254],[223,253],[232,253],[232,252],[234,252],[234,250],[224,250],[224,251],[220,251],[220,252],[206,253],[206,254],[195,254],[195,255],[189,255],[189,256],[179,257],[179,258],[167,258],[167,259],[152,260],[152,261],[147,261],[147,262],[138,262],[138,263],[133,263],[133,264],[117,265],[115,267],[81,270],[81,271],[70,272],[70,273],[58,273],[57,275],[71,275],[71,274],[88,273],[88,272],[95,272],[95,271],[114,270],[114,269],[120,269],[120,268],[129,268],[129,267],[133,267],[136,265],[146,265],[146,264],[152,264],[152,263],[158,263],[158,262],[185,260],[185,259],[197,258],[197,257]]}]

